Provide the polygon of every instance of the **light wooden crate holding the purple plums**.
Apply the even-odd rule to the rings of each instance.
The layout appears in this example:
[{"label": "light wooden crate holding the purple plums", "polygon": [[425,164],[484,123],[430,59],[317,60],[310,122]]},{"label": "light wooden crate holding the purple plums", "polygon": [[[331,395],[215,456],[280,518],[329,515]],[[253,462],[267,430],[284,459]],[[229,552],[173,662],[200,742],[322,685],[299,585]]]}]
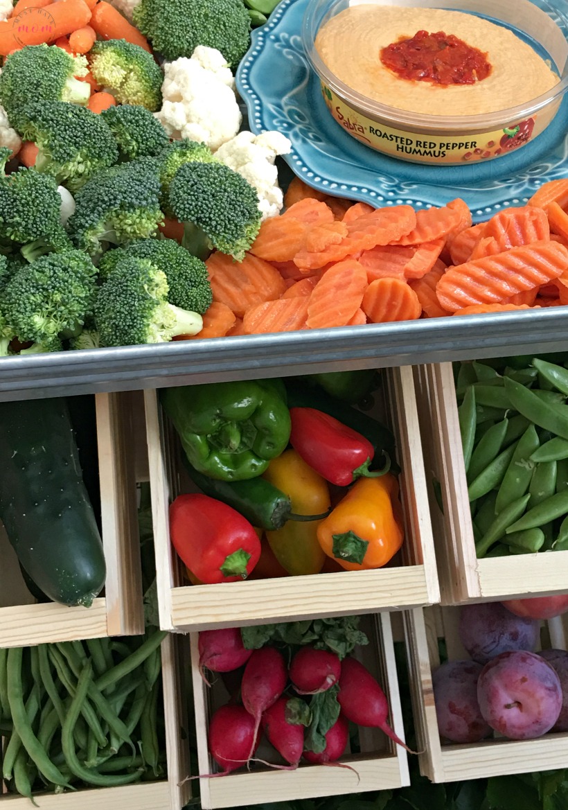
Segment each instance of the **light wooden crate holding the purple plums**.
[{"label": "light wooden crate holding the purple plums", "polygon": [[[471,744],[440,742],[433,700],[432,672],[440,665],[438,638],[445,638],[448,659],[469,655],[458,635],[459,608],[415,608],[405,613],[412,708],[421,773],[432,782],[457,782],[503,774],[566,768],[568,732],[549,733],[536,740],[481,740]],[[564,617],[543,623],[542,646],[568,650]]]}]

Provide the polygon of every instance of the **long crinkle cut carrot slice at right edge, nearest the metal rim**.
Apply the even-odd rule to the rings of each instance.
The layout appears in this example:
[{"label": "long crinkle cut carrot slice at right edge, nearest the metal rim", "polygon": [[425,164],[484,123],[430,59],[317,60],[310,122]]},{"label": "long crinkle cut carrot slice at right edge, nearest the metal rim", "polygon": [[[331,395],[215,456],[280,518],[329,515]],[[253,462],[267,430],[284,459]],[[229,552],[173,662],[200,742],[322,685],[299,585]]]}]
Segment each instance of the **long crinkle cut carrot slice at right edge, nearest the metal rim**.
[{"label": "long crinkle cut carrot slice at right edge, nearest the metal rim", "polygon": [[517,292],[557,279],[566,267],[568,249],[564,245],[533,242],[449,267],[438,281],[436,294],[451,312],[473,304],[507,303]]}]

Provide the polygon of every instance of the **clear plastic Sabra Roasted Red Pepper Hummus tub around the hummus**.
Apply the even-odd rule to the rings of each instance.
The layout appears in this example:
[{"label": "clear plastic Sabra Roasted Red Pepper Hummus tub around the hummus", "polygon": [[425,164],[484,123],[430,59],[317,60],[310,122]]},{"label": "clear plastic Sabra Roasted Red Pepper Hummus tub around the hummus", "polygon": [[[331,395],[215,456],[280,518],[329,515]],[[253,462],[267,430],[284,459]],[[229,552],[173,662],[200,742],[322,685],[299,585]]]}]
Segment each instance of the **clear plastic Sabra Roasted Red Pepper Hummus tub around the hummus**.
[{"label": "clear plastic Sabra Roasted Red Pepper Hummus tub around the hummus", "polygon": [[[322,61],[315,45],[318,32],[328,21],[352,6],[363,5],[477,15],[509,28],[520,40],[531,45],[559,80],[547,92],[523,104],[475,115],[431,115],[383,104],[339,79]],[[327,109],[337,125],[365,146],[413,163],[459,165],[510,154],[549,126],[568,87],[566,0],[553,3],[547,0],[310,0],[301,38],[310,67],[321,82]],[[349,59],[348,53],[345,59]]]}]

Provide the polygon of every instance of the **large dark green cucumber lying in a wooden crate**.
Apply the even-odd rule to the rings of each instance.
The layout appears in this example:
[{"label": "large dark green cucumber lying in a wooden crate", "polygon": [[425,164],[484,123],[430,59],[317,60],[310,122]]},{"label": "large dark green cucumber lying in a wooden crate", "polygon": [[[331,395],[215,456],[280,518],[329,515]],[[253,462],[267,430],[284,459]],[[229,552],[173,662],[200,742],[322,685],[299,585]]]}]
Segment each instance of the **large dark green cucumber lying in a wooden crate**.
[{"label": "large dark green cucumber lying in a wooden crate", "polygon": [[0,519],[49,599],[89,607],[105,585],[103,544],[65,399],[0,403]]}]

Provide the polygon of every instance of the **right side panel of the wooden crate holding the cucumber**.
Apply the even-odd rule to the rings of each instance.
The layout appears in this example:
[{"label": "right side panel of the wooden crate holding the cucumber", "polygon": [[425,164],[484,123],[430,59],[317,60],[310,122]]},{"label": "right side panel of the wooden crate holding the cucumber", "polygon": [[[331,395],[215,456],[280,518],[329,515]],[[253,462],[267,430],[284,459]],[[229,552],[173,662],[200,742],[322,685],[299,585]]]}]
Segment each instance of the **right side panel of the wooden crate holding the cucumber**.
[{"label": "right side panel of the wooden crate holding the cucumber", "polygon": [[96,394],[100,512],[109,635],[144,632],[134,435],[122,394]]}]

